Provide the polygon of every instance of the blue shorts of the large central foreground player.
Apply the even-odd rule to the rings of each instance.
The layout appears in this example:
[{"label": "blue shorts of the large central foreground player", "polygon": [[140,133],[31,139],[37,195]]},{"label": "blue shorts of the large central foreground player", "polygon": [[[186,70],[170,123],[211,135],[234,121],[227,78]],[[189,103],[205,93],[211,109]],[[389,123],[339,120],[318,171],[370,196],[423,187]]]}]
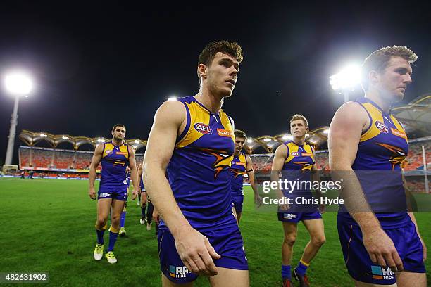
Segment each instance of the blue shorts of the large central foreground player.
[{"label": "blue shorts of the large central foreground player", "polygon": [[[207,227],[198,231],[208,238],[215,252],[221,255],[220,259],[214,260],[215,266],[238,270],[249,269],[242,236],[235,217],[232,217],[231,222],[222,226]],[[189,272],[185,264],[182,263],[175,248],[173,235],[165,225],[158,228],[158,255],[160,257],[161,272],[170,281],[189,283],[198,277],[197,274]]]}]

